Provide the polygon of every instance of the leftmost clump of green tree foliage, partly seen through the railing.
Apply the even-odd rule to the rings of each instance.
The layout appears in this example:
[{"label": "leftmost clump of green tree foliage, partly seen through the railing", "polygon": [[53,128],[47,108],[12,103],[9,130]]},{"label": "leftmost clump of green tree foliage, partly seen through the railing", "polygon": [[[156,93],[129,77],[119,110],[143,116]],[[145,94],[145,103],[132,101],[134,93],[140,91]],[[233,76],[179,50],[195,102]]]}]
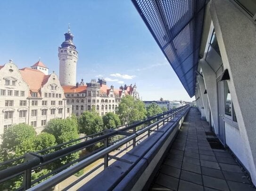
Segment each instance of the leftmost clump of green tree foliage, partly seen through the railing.
[{"label": "leftmost clump of green tree foliage, partly seen through the railing", "polygon": [[[36,136],[34,128],[27,124],[17,124],[8,128],[2,135],[3,141],[0,146],[0,156],[2,161],[13,159],[24,155],[24,153],[35,152],[56,145],[53,135],[41,133]],[[49,152],[49,151],[48,151]],[[22,160],[15,162],[21,163]],[[14,164],[15,164],[14,163]],[[8,168],[8,165],[2,165],[1,168]],[[40,169],[40,172],[33,172],[32,180],[42,173],[50,172],[47,169]],[[0,184],[0,190],[16,190],[22,185],[22,177],[17,176]]]}]

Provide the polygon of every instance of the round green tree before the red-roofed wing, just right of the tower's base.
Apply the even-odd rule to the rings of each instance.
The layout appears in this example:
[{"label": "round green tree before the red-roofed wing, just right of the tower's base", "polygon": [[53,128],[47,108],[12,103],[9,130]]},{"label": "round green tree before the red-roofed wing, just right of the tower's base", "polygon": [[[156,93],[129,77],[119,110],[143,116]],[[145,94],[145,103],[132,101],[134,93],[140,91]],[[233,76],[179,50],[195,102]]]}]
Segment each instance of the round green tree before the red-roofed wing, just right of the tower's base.
[{"label": "round green tree before the red-roofed wing, just right of the tower's base", "polygon": [[78,119],[79,132],[85,135],[92,135],[103,130],[103,121],[101,116],[95,111],[83,112]]}]

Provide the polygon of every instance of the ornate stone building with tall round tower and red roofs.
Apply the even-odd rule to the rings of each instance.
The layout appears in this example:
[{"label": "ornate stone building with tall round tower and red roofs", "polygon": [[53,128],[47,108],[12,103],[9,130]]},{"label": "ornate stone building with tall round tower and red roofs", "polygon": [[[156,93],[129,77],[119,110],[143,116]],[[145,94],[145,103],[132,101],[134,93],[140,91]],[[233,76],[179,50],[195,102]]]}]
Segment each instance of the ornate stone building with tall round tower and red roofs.
[{"label": "ornate stone building with tall round tower and red roofs", "polygon": [[84,111],[90,111],[95,107],[100,115],[105,115],[107,112],[116,112],[120,99],[125,95],[132,95],[134,98],[139,98],[139,92],[136,90],[136,85],[124,85],[119,89],[114,89],[114,86],[107,87],[107,82],[104,79],[91,79],[90,83],[76,83],[76,62],[78,52],[73,43],[74,35],[70,29],[65,33],[65,41],[58,48],[59,58],[59,78],[62,85],[67,104],[72,105],[72,113],[80,116]]}]

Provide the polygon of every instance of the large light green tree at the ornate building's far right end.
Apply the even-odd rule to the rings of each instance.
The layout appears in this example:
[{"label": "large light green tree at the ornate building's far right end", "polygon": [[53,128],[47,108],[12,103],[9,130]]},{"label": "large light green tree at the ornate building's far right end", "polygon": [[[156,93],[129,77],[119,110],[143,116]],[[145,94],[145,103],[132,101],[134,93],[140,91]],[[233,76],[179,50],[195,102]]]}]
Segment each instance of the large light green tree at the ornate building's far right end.
[{"label": "large light green tree at the ornate building's far right end", "polygon": [[124,124],[125,122],[130,123],[145,118],[147,111],[143,101],[128,95],[121,99],[117,114],[122,124]]}]

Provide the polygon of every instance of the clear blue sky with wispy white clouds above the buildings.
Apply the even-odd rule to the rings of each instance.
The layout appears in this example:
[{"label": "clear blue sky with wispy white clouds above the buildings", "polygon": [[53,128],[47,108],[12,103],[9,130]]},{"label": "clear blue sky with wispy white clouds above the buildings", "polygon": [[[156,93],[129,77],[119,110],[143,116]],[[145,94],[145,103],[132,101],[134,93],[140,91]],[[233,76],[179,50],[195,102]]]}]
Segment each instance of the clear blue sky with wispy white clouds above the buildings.
[{"label": "clear blue sky with wispy white clouds above the buildings", "polygon": [[58,74],[70,23],[77,81],[104,76],[115,88],[136,83],[143,100],[192,100],[130,0],[5,0],[0,18],[0,65],[30,67],[41,57]]}]

